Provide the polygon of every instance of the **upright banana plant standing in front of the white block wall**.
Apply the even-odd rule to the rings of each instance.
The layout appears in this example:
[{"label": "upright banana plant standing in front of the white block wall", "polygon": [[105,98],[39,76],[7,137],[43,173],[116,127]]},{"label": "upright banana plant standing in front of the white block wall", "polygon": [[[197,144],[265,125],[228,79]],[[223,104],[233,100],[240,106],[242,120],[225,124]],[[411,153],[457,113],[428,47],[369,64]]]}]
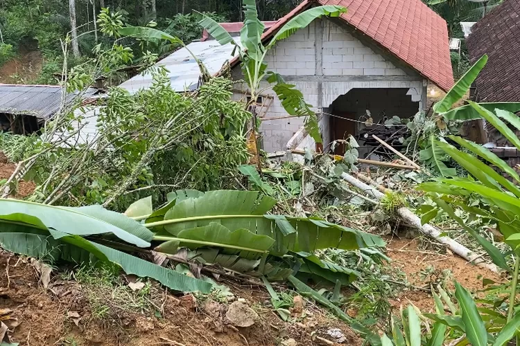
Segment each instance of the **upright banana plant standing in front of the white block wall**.
[{"label": "upright banana plant standing in front of the white block wall", "polygon": [[[209,35],[214,37],[220,44],[233,44],[241,59],[241,67],[245,82],[249,86],[250,102],[249,109],[254,113],[254,107],[261,93],[268,88],[261,86],[266,81],[272,86],[282,106],[292,116],[306,116],[305,127],[316,143],[322,143],[318,120],[311,105],[307,104],[301,91],[295,89],[295,85],[287,84],[281,75],[267,71],[264,62],[267,53],[275,44],[293,35],[297,30],[309,26],[315,19],[322,16],[339,17],[347,11],[343,6],[318,6],[296,15],[282,26],[275,35],[264,45],[263,23],[258,18],[257,4],[255,0],[243,0],[244,25],[241,29],[240,42],[237,42],[227,31],[214,19],[199,14],[200,26],[205,28]],[[253,122],[253,129],[256,123]]]}]

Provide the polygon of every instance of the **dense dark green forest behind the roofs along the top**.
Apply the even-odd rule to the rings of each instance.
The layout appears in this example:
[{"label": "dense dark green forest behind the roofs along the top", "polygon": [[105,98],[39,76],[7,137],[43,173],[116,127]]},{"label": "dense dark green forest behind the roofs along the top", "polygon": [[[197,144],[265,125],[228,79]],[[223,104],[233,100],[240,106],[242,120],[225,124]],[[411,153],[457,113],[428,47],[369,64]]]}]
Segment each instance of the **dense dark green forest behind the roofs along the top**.
[{"label": "dense dark green forest behind the roofs along the top", "polygon": [[[259,17],[279,19],[300,1],[258,0]],[[499,2],[490,1],[489,8]],[[462,37],[460,21],[476,21],[483,12],[482,4],[469,0],[430,0],[428,5],[447,20],[450,37]],[[56,75],[62,71],[62,42],[67,35],[78,37],[77,45],[71,45],[68,68],[92,57],[98,44],[112,44],[104,41],[106,37],[96,27],[94,19],[101,8],[121,13],[125,24],[144,26],[155,21],[160,30],[189,43],[202,33],[193,10],[218,21],[242,21],[241,6],[241,0],[0,0],[0,82],[55,84]],[[147,47],[159,56],[175,48]],[[1,69],[13,60],[12,66]],[[456,75],[465,71],[465,50],[453,55],[452,61]]]}]

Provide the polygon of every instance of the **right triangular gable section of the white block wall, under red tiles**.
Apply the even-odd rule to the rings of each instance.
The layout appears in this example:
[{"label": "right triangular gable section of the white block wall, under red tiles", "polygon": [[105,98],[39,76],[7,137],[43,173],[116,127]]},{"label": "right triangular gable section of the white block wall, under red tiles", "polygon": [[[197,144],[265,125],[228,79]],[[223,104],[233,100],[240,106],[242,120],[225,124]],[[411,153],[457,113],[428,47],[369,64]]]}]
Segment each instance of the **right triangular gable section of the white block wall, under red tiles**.
[{"label": "right triangular gable section of the white block wall, under red tiles", "polygon": [[332,21],[324,21],[324,75],[406,75]]}]

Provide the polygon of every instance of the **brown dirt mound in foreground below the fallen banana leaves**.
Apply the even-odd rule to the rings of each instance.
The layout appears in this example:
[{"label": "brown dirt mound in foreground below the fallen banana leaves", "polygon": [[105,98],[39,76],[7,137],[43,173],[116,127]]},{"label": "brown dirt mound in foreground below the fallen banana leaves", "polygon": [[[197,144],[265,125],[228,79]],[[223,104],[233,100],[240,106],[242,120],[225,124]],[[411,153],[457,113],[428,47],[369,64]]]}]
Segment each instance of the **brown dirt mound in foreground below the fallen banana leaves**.
[{"label": "brown dirt mound in foreground below the fallen banana leaves", "polygon": [[320,345],[311,340],[311,333],[327,338],[326,331],[332,328],[340,329],[348,345],[362,344],[345,323],[315,306],[308,304],[306,316],[291,324],[281,321],[268,307],[266,291],[237,286],[236,282],[231,288],[236,298],[244,298],[259,314],[252,327],[233,327],[219,318],[225,316],[222,310],[206,304],[192,308],[184,304],[190,299],[165,293],[159,285],[151,290],[150,301],[162,313],[120,311],[99,320],[94,318],[89,292],[80,284],[51,275],[45,290],[29,260],[0,250],[0,307],[11,309],[10,316],[17,318],[18,325],[10,335],[12,342],[21,346],[270,346],[288,338],[295,339],[297,345]]}]

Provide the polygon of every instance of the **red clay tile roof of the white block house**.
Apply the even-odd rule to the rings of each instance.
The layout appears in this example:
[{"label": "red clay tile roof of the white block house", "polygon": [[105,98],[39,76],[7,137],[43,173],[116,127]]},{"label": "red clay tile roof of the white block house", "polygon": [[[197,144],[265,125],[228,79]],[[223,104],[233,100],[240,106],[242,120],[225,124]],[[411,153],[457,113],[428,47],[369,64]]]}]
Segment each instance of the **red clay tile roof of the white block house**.
[{"label": "red clay tile roof of the white block house", "polygon": [[[287,21],[313,4],[345,6],[347,13],[341,15],[341,19],[374,39],[444,91],[453,86],[446,21],[421,0],[304,0],[271,26],[263,38],[273,35]],[[373,26],[377,29],[374,30]],[[389,30],[392,33],[388,33]]]}]

